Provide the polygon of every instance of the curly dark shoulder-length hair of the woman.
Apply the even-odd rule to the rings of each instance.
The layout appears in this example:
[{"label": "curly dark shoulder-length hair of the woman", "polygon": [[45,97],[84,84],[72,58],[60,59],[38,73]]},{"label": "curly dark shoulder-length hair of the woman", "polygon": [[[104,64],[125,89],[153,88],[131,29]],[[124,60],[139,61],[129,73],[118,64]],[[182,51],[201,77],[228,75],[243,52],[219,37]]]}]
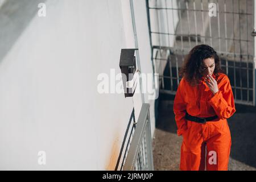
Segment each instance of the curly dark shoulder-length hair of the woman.
[{"label": "curly dark shoulder-length hair of the woman", "polygon": [[212,47],[206,44],[197,45],[191,49],[179,71],[180,77],[184,77],[192,86],[198,85],[203,77],[203,60],[207,58],[214,59],[215,68],[213,73],[216,75],[216,81],[218,82],[218,73],[224,73],[221,69],[220,57]]}]

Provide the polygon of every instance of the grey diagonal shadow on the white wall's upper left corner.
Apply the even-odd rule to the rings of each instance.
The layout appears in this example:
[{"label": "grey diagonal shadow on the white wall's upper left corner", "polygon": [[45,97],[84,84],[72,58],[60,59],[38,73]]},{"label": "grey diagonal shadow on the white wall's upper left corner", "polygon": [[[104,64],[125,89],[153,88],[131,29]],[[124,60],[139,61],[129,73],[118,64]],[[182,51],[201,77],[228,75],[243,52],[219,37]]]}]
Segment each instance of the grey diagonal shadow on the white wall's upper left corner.
[{"label": "grey diagonal shadow on the white wall's upper left corner", "polygon": [[0,7],[0,62],[47,0],[8,0]]}]

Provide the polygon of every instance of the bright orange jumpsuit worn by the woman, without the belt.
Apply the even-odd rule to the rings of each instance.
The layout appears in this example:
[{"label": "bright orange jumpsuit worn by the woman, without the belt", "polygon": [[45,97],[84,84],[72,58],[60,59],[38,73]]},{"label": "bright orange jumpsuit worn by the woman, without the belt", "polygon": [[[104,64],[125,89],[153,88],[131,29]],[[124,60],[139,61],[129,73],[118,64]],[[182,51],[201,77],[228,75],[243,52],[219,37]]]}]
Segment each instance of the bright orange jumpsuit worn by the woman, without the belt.
[{"label": "bright orange jumpsuit worn by the woman, without the belt", "polygon": [[[183,136],[180,170],[204,170],[205,163],[207,170],[228,170],[231,136],[226,118],[231,117],[236,108],[228,76],[219,75],[219,91],[215,94],[203,79],[192,87],[182,78],[177,88],[174,114],[177,135]],[[217,115],[218,118],[214,122],[197,123],[185,119],[186,111],[195,117]]]}]

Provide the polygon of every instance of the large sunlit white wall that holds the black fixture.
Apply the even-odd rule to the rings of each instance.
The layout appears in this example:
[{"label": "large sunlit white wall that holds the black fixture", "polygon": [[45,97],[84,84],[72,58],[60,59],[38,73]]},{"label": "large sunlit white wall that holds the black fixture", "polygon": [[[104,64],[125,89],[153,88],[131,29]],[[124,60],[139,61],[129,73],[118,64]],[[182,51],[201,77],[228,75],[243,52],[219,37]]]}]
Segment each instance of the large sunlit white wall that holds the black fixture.
[{"label": "large sunlit white wall that holds the black fixture", "polygon": [[[97,76],[119,73],[121,48],[134,44],[128,3],[46,1],[47,16],[0,60],[0,169],[114,169],[133,98],[99,94]],[[142,71],[152,72],[146,5],[134,4]]]}]

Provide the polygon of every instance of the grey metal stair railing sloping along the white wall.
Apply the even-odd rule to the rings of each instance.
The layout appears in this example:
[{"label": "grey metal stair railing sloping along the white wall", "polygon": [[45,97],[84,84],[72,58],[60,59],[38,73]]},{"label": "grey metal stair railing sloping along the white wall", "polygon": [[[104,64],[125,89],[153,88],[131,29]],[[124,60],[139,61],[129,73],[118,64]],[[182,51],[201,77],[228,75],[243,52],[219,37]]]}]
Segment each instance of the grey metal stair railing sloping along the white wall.
[{"label": "grey metal stair railing sloping along the white wall", "polygon": [[154,170],[149,104],[143,104],[133,138],[129,141],[129,151],[125,156],[123,170]]}]

